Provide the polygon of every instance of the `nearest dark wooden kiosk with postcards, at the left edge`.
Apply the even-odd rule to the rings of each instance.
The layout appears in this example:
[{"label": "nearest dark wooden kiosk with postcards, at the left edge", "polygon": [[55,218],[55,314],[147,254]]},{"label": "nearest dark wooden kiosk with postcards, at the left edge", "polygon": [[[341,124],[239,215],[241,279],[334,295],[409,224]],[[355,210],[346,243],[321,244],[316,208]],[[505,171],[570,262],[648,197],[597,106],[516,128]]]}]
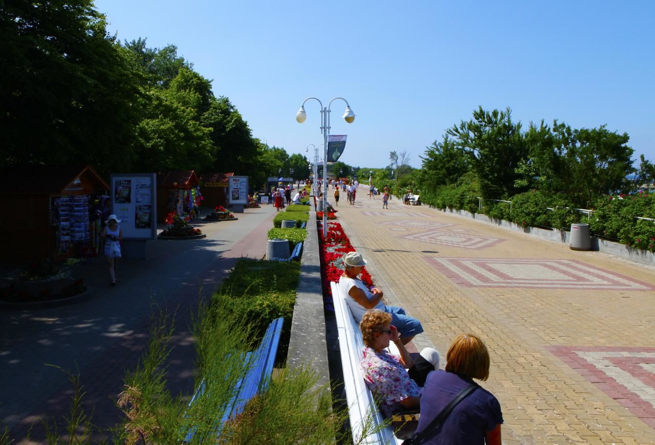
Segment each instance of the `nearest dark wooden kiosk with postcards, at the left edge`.
[{"label": "nearest dark wooden kiosk with postcards, at the left edge", "polygon": [[98,254],[100,219],[109,185],[91,166],[14,166],[0,171],[7,209],[0,218],[3,261]]}]

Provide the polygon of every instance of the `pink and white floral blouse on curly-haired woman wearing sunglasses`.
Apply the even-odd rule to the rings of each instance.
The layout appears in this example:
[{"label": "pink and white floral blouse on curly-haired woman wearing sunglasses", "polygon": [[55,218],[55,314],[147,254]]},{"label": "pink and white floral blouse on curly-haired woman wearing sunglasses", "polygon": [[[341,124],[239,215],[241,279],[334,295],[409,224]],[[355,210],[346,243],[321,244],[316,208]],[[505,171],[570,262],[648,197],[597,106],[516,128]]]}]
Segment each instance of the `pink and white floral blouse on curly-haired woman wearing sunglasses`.
[{"label": "pink and white floral blouse on curly-haired woman wearing sunglasses", "polygon": [[411,380],[398,355],[386,351],[377,353],[375,349],[364,346],[362,374],[385,417],[400,409],[400,400],[419,397],[419,385]]}]

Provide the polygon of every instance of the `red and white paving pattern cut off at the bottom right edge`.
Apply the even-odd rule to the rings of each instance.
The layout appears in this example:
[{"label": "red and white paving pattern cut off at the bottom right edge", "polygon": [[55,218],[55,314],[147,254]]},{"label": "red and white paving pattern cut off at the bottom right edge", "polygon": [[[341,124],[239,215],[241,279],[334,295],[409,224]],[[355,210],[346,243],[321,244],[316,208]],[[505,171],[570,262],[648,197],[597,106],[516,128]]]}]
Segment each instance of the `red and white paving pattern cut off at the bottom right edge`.
[{"label": "red and white paving pattern cut off at the bottom right edge", "polygon": [[655,347],[553,346],[549,349],[655,428]]}]

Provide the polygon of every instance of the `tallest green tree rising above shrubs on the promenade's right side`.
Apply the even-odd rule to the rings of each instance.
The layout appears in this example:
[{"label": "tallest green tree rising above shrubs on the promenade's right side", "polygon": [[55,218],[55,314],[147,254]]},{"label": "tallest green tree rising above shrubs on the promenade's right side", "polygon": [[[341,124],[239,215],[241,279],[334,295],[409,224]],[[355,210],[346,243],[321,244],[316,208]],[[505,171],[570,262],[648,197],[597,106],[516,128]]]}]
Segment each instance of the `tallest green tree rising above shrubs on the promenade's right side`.
[{"label": "tallest green tree rising above shrubs on the promenade's right side", "polygon": [[516,168],[528,156],[521,123],[512,122],[512,111],[485,111],[479,107],[468,122],[447,130],[453,143],[470,156],[484,198],[512,196],[520,175]]}]

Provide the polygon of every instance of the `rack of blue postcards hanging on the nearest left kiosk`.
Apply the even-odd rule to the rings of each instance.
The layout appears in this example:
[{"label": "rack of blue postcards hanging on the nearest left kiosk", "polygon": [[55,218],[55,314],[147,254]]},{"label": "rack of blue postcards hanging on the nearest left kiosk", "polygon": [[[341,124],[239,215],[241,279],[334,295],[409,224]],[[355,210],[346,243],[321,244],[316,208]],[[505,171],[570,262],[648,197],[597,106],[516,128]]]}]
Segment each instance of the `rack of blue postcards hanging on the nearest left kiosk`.
[{"label": "rack of blue postcards hanging on the nearest left kiosk", "polygon": [[57,248],[67,253],[74,244],[88,244],[95,240],[96,226],[89,221],[88,195],[69,195],[53,198],[51,213],[53,224],[58,227]]}]

